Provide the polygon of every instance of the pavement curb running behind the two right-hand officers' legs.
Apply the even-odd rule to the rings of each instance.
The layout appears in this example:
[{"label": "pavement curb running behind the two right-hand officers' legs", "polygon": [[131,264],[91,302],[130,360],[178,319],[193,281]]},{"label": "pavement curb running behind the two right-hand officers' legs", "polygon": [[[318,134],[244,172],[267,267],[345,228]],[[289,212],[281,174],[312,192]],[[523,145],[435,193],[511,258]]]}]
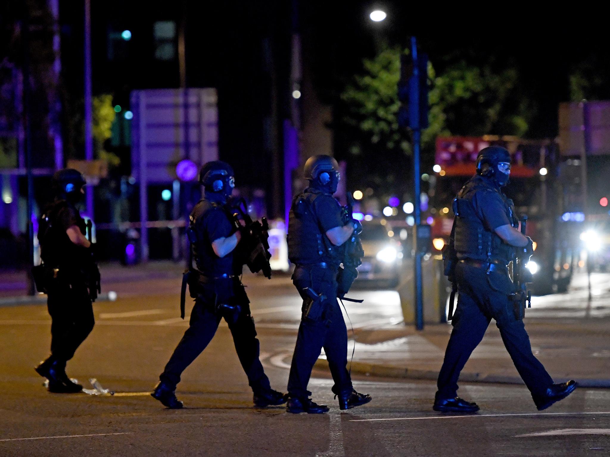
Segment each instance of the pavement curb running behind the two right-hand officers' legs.
[{"label": "pavement curb running behind the two right-hand officers' legs", "polygon": [[[314,365],[315,368],[323,368],[328,369],[328,362],[326,359],[319,358]],[[428,380],[428,381],[436,381],[439,372],[434,370],[417,370],[417,369],[409,369],[407,367],[397,367],[392,365],[382,365],[382,364],[371,364],[371,363],[363,363],[363,362],[352,362],[351,363],[351,372],[367,375],[367,376],[379,376],[383,378],[402,378],[402,379],[418,379],[418,380]],[[492,373],[473,373],[473,372],[462,372],[460,374],[459,380],[464,383],[493,383],[493,384],[521,384],[523,385],[523,380],[520,377],[516,376],[504,376],[504,375],[495,375]],[[554,381],[556,383],[562,383],[568,381],[569,378],[556,378]],[[580,387],[586,388],[600,388],[600,389],[608,389],[610,388],[610,379],[592,379],[592,378],[578,378],[576,377],[576,382]]]}]

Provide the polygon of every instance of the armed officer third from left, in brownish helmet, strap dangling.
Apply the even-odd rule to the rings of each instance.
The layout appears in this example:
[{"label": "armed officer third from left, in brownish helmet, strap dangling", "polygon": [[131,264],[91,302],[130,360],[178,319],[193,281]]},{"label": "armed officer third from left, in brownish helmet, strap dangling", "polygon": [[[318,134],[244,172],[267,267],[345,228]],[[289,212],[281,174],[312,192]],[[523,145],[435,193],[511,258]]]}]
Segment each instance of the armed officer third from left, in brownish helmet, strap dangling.
[{"label": "armed officer third from left, in brownish helmet, strap dangling", "polygon": [[[303,298],[303,314],[288,380],[289,413],[326,413],[328,406],[309,399],[307,384],[314,363],[324,348],[339,396],[340,409],[364,405],[370,395],[357,393],[347,365],[347,329],[337,303],[356,277],[355,271],[345,271],[351,280],[339,277],[346,242],[362,225],[344,217],[342,207],[332,195],[339,183],[339,166],[328,155],[310,157],[304,168],[309,187],[295,196],[289,216],[289,259],[295,264],[293,283]],[[355,270],[355,269],[354,269]],[[344,271],[341,270],[343,276]]]}]

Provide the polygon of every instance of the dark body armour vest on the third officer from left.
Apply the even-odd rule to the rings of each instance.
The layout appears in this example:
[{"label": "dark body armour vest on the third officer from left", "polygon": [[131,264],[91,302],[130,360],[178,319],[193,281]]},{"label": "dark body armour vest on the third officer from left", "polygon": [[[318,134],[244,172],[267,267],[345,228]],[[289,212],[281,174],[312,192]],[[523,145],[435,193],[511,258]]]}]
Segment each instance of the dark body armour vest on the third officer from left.
[{"label": "dark body armour vest on the third officer from left", "polygon": [[342,260],[340,246],[334,246],[323,232],[314,200],[323,193],[307,188],[292,200],[288,218],[288,259],[294,264],[326,262],[339,266]]}]

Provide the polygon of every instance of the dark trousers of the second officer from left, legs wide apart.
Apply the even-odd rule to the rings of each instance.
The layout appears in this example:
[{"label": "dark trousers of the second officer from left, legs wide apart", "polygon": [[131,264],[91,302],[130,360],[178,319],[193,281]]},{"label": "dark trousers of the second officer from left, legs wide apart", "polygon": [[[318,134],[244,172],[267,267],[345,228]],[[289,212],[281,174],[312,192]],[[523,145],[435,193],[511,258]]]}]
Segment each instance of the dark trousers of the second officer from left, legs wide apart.
[{"label": "dark trousers of the second officer from left, legs wide apart", "polygon": [[[260,344],[256,338],[254,321],[250,316],[248,297],[243,291],[243,286],[237,287],[241,290],[238,291],[236,303],[239,303],[242,311],[235,322],[232,319],[226,319],[226,321],[233,336],[237,356],[248,377],[249,386],[256,394],[268,391],[271,387],[259,360]],[[222,319],[222,316],[214,310],[214,302],[213,293],[204,294],[195,300],[195,306],[193,306],[190,316],[190,327],[184,332],[184,336],[160,375],[161,381],[176,386],[180,382],[182,372],[212,341]]]}]

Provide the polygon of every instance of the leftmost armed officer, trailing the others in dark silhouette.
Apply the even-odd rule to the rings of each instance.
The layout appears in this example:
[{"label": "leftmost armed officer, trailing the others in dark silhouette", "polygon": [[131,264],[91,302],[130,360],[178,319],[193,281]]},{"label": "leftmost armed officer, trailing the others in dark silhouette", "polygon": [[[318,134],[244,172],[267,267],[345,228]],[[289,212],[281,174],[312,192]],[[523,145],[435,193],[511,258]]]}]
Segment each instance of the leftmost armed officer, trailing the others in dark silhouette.
[{"label": "leftmost armed officer, trailing the others in dark silhouette", "polygon": [[38,291],[48,295],[52,324],[51,355],[35,370],[49,380],[49,392],[82,390],[81,384],[68,378],[65,367],[95,324],[91,302],[99,292],[99,271],[76,207],[84,185],[80,172],[57,171],[52,177],[55,199],[46,207],[38,230],[42,264],[34,267],[34,276]]}]

